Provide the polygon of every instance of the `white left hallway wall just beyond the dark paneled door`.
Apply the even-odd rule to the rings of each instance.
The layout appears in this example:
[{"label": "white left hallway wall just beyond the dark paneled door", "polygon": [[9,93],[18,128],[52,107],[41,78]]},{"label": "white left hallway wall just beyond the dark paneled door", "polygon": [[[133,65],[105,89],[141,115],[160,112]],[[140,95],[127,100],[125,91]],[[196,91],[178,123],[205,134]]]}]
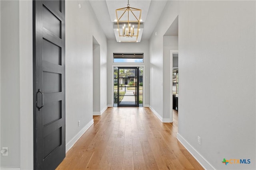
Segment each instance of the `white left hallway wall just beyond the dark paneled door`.
[{"label": "white left hallway wall just beyond the dark paneled door", "polygon": [[[106,72],[107,41],[89,1],[66,1],[67,149],[93,121],[93,37],[100,45],[100,72]],[[107,94],[102,87],[106,86],[106,73],[100,76],[100,101],[106,107]],[[104,107],[103,104],[101,106]]]}]

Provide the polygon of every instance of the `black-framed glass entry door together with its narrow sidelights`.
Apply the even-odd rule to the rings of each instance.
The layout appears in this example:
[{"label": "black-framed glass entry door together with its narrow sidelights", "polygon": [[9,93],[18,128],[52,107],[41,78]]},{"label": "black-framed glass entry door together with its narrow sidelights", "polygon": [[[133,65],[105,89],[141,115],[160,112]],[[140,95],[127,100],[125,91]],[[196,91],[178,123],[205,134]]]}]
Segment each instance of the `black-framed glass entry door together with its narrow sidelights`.
[{"label": "black-framed glass entry door together with its narrow sidelights", "polygon": [[143,107],[143,67],[114,67],[114,107]]}]

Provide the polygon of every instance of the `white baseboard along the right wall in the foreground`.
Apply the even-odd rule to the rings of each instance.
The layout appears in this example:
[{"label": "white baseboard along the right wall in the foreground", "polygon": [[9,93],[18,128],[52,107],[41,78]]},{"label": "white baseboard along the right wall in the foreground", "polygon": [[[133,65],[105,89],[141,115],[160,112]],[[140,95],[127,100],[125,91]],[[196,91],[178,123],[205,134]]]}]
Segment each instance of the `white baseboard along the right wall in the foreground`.
[{"label": "white baseboard along the right wall in the foreground", "polygon": [[192,154],[192,156],[205,170],[215,170],[215,168],[200,153],[198,153],[196,149],[194,149],[179,133],[177,133],[177,139],[188,150],[188,152]]}]

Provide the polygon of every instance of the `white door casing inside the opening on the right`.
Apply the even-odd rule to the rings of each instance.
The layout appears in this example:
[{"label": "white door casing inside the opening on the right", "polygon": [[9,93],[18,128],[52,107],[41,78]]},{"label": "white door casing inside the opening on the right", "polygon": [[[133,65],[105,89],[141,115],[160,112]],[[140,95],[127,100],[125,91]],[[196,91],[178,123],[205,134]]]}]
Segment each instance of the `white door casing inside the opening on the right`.
[{"label": "white door casing inside the opening on the right", "polygon": [[173,121],[172,115],[172,108],[173,108],[173,101],[172,101],[172,68],[173,68],[173,54],[178,54],[178,50],[170,50],[170,121]]}]

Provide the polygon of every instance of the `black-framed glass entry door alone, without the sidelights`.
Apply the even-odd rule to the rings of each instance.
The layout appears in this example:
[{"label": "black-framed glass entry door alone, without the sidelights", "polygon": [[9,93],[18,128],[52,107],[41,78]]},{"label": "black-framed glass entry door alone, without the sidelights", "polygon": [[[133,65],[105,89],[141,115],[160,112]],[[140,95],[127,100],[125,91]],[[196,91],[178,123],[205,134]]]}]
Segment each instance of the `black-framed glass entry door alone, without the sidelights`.
[{"label": "black-framed glass entry door alone, without the sidelights", "polygon": [[139,107],[139,75],[139,67],[118,67],[118,107]]}]

